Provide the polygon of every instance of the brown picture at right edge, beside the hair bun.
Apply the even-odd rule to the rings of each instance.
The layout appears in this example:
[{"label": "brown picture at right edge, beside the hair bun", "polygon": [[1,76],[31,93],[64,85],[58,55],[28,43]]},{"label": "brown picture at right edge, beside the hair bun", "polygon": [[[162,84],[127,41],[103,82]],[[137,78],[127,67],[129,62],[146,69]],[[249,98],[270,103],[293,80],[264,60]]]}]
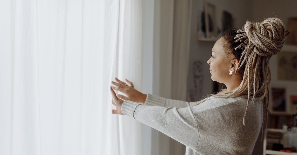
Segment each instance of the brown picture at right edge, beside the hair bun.
[{"label": "brown picture at right edge, beside the hair bun", "polygon": [[297,17],[288,18],[288,29],[290,34],[287,36],[285,44],[297,46]]}]

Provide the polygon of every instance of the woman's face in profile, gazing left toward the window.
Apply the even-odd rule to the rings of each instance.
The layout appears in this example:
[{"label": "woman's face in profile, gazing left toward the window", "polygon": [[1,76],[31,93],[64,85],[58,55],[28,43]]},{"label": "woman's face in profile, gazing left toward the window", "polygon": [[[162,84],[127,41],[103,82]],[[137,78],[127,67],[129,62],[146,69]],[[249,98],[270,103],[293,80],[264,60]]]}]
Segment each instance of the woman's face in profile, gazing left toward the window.
[{"label": "woman's face in profile, gazing left toward the window", "polygon": [[[211,50],[211,58],[207,63],[210,65],[211,80],[219,83],[227,83],[230,80],[231,58],[225,53],[223,37],[217,40]],[[234,74],[234,72],[232,73]]]}]

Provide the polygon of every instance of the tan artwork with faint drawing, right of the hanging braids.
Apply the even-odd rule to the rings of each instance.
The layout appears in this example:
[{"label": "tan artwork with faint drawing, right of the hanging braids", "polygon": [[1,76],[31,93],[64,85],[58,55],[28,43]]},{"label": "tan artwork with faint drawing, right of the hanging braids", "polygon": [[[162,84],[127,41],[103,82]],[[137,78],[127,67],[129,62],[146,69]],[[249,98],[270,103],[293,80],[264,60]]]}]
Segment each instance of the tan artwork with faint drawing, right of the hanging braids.
[{"label": "tan artwork with faint drawing, right of the hanging braids", "polygon": [[297,52],[277,53],[277,79],[297,81]]}]

